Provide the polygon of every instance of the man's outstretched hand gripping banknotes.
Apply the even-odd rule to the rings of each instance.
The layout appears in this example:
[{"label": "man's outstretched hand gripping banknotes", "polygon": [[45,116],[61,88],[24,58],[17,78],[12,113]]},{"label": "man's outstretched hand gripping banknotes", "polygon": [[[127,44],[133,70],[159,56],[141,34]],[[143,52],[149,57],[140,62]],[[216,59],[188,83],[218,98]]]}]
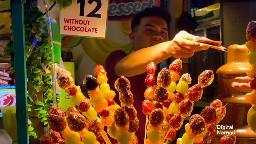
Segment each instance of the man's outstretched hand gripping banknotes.
[{"label": "man's outstretched hand gripping banknotes", "polygon": [[172,39],[167,51],[175,58],[190,58],[194,55],[194,52],[208,49],[208,47],[202,47],[199,43],[194,42],[194,38],[194,35],[186,31],[180,31]]}]

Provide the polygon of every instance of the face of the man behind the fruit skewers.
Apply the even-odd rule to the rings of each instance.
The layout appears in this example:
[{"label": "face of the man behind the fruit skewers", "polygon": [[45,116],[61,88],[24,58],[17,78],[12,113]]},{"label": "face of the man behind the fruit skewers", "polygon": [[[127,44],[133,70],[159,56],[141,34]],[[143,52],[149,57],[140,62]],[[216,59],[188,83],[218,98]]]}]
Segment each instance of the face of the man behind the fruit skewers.
[{"label": "face of the man behind the fruit skewers", "polygon": [[130,34],[134,51],[169,41],[167,23],[162,17],[143,17],[140,25]]}]

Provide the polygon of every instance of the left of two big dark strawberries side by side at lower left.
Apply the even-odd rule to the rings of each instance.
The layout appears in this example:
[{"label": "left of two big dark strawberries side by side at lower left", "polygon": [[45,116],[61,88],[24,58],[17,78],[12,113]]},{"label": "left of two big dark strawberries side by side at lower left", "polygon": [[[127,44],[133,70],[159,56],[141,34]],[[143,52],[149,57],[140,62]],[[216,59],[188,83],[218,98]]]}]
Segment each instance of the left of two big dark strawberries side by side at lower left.
[{"label": "left of two big dark strawberries side by side at lower left", "polygon": [[47,121],[50,128],[55,132],[62,132],[68,125],[64,117],[55,114],[48,114]]}]

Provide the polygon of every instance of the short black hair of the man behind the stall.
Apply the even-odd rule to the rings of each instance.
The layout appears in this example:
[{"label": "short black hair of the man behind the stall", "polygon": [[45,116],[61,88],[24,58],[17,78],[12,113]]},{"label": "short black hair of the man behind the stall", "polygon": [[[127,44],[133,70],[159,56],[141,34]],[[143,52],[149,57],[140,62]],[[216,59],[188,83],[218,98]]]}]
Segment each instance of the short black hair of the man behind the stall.
[{"label": "short black hair of the man behind the stall", "polygon": [[163,8],[161,7],[148,7],[144,9],[143,11],[138,12],[135,14],[132,20],[132,31],[134,30],[134,27],[140,24],[140,21],[143,17],[147,16],[159,16],[165,19],[168,28],[170,27],[171,22],[171,15]]}]

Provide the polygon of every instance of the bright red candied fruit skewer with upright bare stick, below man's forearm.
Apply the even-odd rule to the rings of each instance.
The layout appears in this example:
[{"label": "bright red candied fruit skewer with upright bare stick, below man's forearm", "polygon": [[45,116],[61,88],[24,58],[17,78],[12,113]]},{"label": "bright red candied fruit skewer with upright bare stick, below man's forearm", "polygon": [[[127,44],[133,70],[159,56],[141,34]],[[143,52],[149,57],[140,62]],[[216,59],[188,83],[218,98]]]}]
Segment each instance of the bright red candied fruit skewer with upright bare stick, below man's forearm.
[{"label": "bright red candied fruit skewer with upright bare stick, below man's forearm", "polygon": [[149,114],[153,111],[154,106],[153,99],[156,73],[156,65],[154,62],[150,62],[146,66],[146,73],[148,74],[145,78],[145,86],[147,89],[144,92],[145,100],[142,102],[142,113],[146,115],[144,142],[146,141],[146,126],[148,123]]}]

